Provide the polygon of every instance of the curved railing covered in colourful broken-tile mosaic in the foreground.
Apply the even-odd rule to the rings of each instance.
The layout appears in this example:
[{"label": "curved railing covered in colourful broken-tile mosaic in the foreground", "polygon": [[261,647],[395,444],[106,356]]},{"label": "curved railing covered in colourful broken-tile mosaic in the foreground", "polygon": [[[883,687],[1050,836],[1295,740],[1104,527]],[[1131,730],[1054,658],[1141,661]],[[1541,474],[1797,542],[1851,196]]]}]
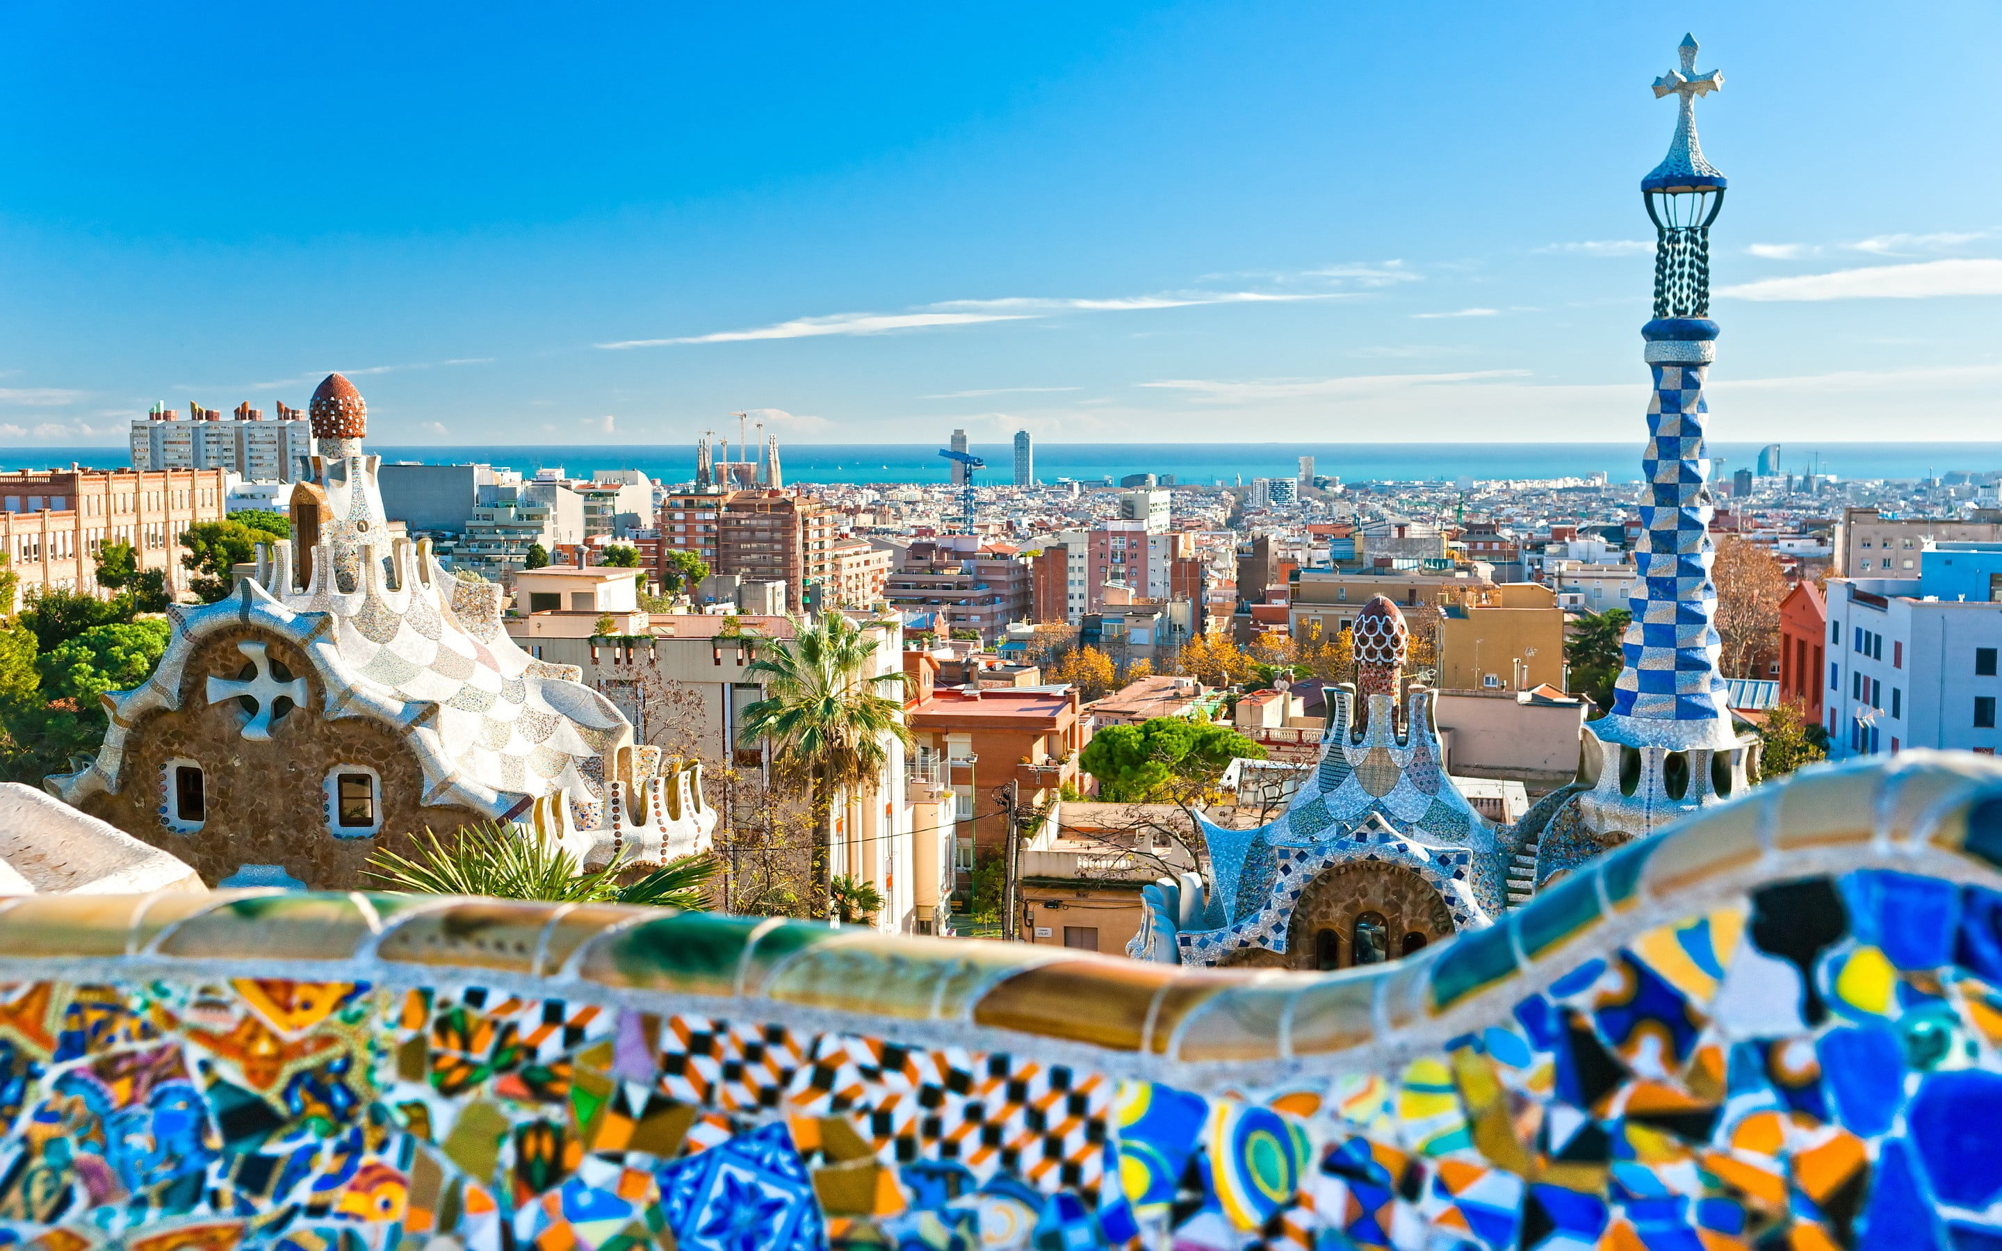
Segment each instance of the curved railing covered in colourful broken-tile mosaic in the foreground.
[{"label": "curved railing covered in colourful broken-tile mosaic in the foreground", "polygon": [[2002,769],[1908,753],[1339,975],[605,905],[18,899],[0,1241],[1986,1245],[1998,863]]}]

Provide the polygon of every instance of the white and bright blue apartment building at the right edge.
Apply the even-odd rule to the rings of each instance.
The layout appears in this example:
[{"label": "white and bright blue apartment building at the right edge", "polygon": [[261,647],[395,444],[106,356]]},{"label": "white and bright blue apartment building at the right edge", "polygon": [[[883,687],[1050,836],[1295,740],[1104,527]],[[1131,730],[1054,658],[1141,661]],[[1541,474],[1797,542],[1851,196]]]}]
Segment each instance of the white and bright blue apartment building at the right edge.
[{"label": "white and bright blue apartment building at the right edge", "polygon": [[1828,578],[1830,759],[2002,747],[2002,542],[1918,550],[1916,580]]}]

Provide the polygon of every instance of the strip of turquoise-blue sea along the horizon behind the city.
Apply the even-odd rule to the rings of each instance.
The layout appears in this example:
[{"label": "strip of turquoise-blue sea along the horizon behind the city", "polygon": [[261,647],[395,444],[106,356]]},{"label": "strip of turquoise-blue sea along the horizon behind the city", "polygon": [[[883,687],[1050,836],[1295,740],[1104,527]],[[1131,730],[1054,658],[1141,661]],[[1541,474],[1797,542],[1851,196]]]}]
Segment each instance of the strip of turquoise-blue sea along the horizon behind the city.
[{"label": "strip of turquoise-blue sea along the horizon behind the city", "polygon": [[[639,468],[663,482],[695,476],[689,444],[597,446],[394,446],[370,444],[384,460],[480,460],[533,472],[563,466],[571,476],[601,468]],[[1754,468],[1758,444],[1714,442],[1720,476]],[[1313,456],[1313,470],[1343,482],[1437,482],[1471,478],[1564,478],[1606,472],[1614,482],[1640,480],[1636,442],[1045,442],[1035,448],[1035,476],[1043,482],[1115,482],[1127,474],[1173,474],[1177,482],[1215,484],[1251,478],[1291,478],[1299,456]],[[977,484],[1013,480],[1011,444],[973,444],[987,460]],[[935,444],[783,444],[787,482],[945,482],[947,462]],[[124,448],[0,448],[0,470],[52,468],[70,462],[94,468],[130,464]],[[2002,442],[1824,442],[1784,444],[1784,472],[1836,474],[1838,478],[1922,478],[1930,474],[2002,470]]]}]

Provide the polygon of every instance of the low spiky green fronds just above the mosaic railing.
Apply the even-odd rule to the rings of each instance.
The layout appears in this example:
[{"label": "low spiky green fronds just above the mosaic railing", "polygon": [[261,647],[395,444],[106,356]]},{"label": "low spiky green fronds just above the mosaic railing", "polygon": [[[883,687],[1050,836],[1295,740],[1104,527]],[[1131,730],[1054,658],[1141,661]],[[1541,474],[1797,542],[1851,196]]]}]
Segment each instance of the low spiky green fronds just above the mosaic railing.
[{"label": "low spiky green fronds just above the mosaic railing", "polygon": [[709,855],[681,857],[647,877],[619,885],[623,861],[603,869],[583,863],[557,843],[511,825],[482,823],[458,831],[444,847],[428,829],[416,857],[376,851],[366,877],[408,895],[486,895],[490,899],[543,899],[549,903],[645,903],[703,911],[709,881],[723,865]]}]

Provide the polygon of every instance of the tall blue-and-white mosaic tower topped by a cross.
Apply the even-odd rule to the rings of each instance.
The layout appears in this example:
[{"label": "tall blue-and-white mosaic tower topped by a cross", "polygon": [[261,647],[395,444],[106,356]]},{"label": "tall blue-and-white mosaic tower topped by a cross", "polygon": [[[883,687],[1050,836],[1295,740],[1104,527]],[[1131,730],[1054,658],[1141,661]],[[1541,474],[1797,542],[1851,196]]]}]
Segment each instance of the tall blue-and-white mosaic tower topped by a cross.
[{"label": "tall blue-and-white mosaic tower topped by a cross", "polygon": [[1724,206],[1726,180],[1696,140],[1696,98],[1722,86],[1716,70],[1696,72],[1694,38],[1682,40],[1682,68],[1654,82],[1656,96],[1678,98],[1680,116],[1668,156],[1640,184],[1656,228],[1654,318],[1642,326],[1654,400],[1634,552],[1640,594],[1632,598],[1614,707],[1586,727],[1580,783],[1590,793],[1578,797],[1582,825],[1572,827],[1568,847],[1546,839],[1540,855],[1556,867],[1740,793],[1758,765],[1758,741],[1734,729],[1726,705],[1714,624],[1718,588],[1710,580],[1716,548],[1704,374],[1718,340],[1710,320],[1710,224]]}]

